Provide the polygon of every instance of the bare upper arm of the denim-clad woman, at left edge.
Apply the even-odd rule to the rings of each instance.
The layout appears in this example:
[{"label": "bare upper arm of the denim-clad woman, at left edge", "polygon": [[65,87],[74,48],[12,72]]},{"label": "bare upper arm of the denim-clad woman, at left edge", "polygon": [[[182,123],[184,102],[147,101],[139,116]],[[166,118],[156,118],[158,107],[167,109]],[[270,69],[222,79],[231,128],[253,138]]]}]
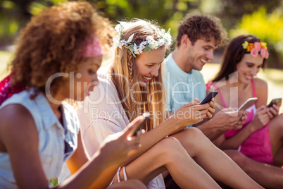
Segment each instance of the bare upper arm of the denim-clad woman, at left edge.
[{"label": "bare upper arm of the denim-clad woman, at left edge", "polygon": [[22,105],[11,104],[1,109],[0,115],[1,142],[9,154],[18,187],[48,188],[38,152],[37,127],[30,111]]}]

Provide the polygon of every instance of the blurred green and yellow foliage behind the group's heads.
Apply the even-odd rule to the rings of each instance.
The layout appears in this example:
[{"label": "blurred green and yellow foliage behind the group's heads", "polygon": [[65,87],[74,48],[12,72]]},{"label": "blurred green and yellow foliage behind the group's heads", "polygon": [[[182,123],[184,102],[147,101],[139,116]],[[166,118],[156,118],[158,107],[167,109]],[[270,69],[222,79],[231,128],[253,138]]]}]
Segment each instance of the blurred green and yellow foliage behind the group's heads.
[{"label": "blurred green and yellow foliage behind the group's heads", "polygon": [[[20,30],[44,8],[67,0],[0,0],[0,49],[11,44]],[[268,43],[268,65],[283,68],[283,0],[89,0],[104,16],[117,23],[125,18],[156,20],[177,33],[180,20],[191,11],[217,16],[229,38],[244,33]],[[222,53],[222,49],[216,51]],[[218,60],[216,60],[219,62]]]}]

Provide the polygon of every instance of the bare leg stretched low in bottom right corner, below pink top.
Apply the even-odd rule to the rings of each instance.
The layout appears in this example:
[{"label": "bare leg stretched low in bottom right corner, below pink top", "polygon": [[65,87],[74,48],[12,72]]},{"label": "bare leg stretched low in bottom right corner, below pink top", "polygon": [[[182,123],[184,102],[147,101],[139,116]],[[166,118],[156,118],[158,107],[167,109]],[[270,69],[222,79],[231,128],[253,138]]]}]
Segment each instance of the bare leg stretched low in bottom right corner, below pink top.
[{"label": "bare leg stretched low in bottom right corner, below pink top", "polygon": [[264,188],[283,188],[283,169],[253,161],[237,150],[224,150],[224,152]]}]

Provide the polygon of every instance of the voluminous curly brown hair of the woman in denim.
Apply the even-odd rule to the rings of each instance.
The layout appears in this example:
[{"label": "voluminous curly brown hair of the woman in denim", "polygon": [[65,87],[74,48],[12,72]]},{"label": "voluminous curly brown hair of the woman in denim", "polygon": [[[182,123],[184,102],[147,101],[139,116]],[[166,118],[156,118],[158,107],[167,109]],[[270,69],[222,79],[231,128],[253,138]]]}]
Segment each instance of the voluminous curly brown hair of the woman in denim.
[{"label": "voluminous curly brown hair of the woman in denim", "polygon": [[[113,29],[109,21],[87,2],[67,2],[46,8],[21,31],[15,59],[11,62],[12,85],[34,87],[45,94],[46,81],[55,73],[76,71],[83,45],[96,34],[106,49]],[[56,93],[63,78],[51,83]]]}]

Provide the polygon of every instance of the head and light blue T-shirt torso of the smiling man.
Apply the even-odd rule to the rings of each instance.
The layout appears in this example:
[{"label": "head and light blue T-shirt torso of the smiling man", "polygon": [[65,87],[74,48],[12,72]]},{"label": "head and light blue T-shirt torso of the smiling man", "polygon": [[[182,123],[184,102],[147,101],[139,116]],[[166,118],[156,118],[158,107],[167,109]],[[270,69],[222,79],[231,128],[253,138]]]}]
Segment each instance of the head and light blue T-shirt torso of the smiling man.
[{"label": "head and light blue T-shirt torso of the smiling man", "polygon": [[176,48],[165,59],[164,80],[170,113],[196,97],[206,97],[206,85],[199,71],[207,61],[213,60],[213,51],[226,41],[227,32],[214,16],[187,14],[181,21]]}]

